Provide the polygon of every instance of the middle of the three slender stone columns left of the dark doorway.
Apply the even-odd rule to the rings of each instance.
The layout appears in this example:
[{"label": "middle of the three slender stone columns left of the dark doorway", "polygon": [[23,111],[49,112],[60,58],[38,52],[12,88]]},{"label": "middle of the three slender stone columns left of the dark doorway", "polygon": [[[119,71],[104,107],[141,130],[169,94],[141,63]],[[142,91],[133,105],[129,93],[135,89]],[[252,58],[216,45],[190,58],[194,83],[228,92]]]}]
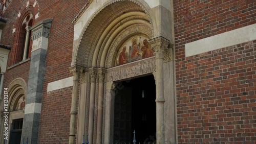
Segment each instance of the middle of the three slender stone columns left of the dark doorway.
[{"label": "middle of the three slender stone columns left of the dark doorway", "polygon": [[89,143],[93,143],[93,122],[94,122],[94,107],[95,107],[95,86],[96,86],[96,78],[97,73],[94,68],[90,69],[90,82],[91,82],[91,90],[90,90],[90,107],[89,107],[89,126],[88,126],[88,134],[89,134]]}]

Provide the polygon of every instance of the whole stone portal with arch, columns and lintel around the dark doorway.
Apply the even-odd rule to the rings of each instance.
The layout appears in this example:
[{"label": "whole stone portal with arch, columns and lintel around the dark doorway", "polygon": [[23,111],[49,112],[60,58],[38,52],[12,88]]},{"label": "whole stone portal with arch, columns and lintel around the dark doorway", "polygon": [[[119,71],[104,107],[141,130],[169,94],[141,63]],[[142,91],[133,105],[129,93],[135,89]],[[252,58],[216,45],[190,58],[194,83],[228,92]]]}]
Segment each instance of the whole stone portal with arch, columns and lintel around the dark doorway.
[{"label": "whole stone portal with arch, columns and lintel around the dark doorway", "polygon": [[[157,139],[164,138],[163,63],[172,61],[169,40],[156,36],[149,6],[143,1],[110,1],[92,15],[78,40],[74,40],[72,66],[73,92],[70,143],[76,127],[77,85],[80,78],[77,142],[89,134],[90,143],[112,142],[113,89],[115,81],[155,74],[157,102]],[[154,17],[155,18],[155,17]],[[75,28],[76,29],[76,28]],[[150,41],[154,56],[117,66],[116,59],[123,43],[143,35]],[[167,68],[168,69],[168,68]],[[168,73],[170,70],[168,69]],[[104,126],[104,127],[103,127]]]}]

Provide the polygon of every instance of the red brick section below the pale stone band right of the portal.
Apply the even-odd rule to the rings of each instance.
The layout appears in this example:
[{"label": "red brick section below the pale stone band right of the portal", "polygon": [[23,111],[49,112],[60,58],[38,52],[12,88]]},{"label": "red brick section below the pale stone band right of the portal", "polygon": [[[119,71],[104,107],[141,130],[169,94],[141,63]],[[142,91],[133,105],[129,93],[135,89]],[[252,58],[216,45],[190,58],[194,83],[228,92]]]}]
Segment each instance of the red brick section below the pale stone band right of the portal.
[{"label": "red brick section below the pale stone band right of the portal", "polygon": [[180,142],[256,140],[256,41],[176,62]]}]

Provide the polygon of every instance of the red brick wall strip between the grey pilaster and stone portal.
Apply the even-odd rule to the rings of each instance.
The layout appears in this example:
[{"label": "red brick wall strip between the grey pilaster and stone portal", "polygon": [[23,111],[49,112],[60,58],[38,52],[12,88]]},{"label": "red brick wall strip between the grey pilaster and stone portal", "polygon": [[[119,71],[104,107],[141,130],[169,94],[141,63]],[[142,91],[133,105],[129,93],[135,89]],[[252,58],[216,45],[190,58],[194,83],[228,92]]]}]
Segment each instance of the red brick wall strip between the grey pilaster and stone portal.
[{"label": "red brick wall strip between the grey pilaster and stone portal", "polygon": [[72,87],[47,92],[47,84],[71,77],[74,23],[86,1],[38,1],[37,21],[53,18],[47,50],[38,143],[68,143]]}]

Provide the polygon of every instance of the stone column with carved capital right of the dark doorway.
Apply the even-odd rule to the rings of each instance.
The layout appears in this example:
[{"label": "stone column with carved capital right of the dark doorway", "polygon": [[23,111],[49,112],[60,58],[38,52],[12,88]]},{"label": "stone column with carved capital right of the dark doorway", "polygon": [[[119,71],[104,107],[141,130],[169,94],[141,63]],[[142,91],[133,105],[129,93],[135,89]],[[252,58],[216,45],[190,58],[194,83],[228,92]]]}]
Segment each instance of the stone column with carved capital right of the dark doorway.
[{"label": "stone column with carved capital right of the dark doorway", "polygon": [[169,41],[163,37],[150,40],[156,53],[156,72],[153,73],[156,80],[156,120],[157,120],[157,143],[164,143],[164,79],[163,79],[163,51],[168,48]]}]

